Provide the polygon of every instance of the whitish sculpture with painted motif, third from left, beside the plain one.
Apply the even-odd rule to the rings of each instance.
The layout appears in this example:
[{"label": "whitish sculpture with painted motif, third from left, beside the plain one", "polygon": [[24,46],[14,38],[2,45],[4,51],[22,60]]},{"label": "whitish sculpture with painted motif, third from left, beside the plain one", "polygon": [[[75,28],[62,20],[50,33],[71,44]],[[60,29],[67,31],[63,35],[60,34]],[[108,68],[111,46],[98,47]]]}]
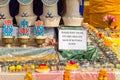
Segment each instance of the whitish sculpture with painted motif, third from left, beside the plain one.
[{"label": "whitish sculpture with painted motif, third from left, beside the plain one", "polygon": [[58,15],[57,2],[58,0],[42,0],[43,14],[40,19],[45,27],[58,27],[61,17]]}]

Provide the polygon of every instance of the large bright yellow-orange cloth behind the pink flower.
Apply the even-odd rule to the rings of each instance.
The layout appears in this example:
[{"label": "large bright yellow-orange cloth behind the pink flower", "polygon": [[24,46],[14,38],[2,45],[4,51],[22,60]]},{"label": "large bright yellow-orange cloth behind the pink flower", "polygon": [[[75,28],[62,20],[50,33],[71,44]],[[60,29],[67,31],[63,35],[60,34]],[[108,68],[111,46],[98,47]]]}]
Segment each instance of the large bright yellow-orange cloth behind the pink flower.
[{"label": "large bright yellow-orange cloth behind the pink flower", "polygon": [[100,28],[107,27],[103,22],[105,15],[114,15],[117,21],[112,26],[120,29],[120,0],[90,0],[90,24]]}]

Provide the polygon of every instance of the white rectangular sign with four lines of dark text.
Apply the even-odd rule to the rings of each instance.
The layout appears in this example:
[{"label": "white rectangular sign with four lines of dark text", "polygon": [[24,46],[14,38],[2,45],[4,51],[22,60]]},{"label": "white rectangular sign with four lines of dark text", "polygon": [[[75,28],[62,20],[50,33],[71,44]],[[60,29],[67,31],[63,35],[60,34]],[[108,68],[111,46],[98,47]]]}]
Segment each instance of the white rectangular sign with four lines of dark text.
[{"label": "white rectangular sign with four lines of dark text", "polygon": [[86,30],[59,30],[59,50],[86,50]]}]

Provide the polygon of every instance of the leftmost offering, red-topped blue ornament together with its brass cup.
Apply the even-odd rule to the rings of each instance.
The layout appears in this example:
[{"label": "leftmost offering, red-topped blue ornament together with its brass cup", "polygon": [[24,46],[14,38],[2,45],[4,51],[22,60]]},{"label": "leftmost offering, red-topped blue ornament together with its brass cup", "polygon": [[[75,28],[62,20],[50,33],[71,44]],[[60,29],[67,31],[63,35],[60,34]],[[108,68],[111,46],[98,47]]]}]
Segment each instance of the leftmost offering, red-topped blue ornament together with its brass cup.
[{"label": "leftmost offering, red-topped blue ornament together with its brass cup", "polygon": [[2,42],[4,43],[5,47],[8,48],[10,48],[14,42],[12,20],[6,20],[4,22]]}]

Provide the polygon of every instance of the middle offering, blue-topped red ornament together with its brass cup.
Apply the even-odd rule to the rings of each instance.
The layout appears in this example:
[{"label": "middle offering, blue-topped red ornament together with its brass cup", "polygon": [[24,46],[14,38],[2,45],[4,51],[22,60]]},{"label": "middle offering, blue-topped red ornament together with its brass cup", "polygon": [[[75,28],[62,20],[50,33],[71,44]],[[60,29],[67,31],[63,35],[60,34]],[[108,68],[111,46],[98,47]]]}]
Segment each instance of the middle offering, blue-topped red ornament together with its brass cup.
[{"label": "middle offering, blue-topped red ornament together with its brass cup", "polygon": [[30,29],[28,26],[28,21],[23,20],[20,22],[20,27],[19,27],[19,43],[20,46],[23,48],[26,48],[28,43],[29,43],[29,35],[30,35]]}]

